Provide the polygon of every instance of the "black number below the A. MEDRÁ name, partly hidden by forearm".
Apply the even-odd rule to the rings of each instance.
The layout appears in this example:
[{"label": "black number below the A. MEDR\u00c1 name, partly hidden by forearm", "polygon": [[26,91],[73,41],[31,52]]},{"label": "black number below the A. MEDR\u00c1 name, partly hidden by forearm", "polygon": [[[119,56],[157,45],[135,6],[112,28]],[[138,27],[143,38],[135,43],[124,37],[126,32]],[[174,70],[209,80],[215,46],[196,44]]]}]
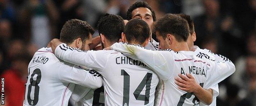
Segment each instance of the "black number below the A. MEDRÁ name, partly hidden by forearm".
[{"label": "black number below the A. MEDR\u00c1 name, partly hidden by forearm", "polygon": [[[203,87],[203,83],[199,84],[201,87]],[[194,95],[194,93],[185,93],[183,95],[181,95],[180,100],[177,104],[177,106],[183,106],[185,99],[190,99],[192,97],[192,95]],[[197,103],[196,103],[197,102]],[[199,99],[195,96],[194,99],[192,100],[192,103],[195,105],[199,104],[200,101]]]}]

